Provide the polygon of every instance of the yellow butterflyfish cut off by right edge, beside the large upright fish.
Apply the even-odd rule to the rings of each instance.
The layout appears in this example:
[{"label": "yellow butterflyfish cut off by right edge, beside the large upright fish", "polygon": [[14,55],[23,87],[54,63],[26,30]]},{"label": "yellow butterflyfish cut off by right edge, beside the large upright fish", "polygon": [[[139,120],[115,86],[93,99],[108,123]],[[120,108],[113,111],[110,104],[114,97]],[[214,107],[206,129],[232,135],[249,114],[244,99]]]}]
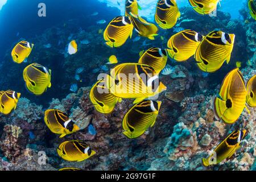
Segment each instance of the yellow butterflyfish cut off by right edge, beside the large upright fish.
[{"label": "yellow butterflyfish cut off by right edge, beside the large upright fish", "polygon": [[256,107],[256,75],[251,77],[246,84],[246,103],[250,107]]}]

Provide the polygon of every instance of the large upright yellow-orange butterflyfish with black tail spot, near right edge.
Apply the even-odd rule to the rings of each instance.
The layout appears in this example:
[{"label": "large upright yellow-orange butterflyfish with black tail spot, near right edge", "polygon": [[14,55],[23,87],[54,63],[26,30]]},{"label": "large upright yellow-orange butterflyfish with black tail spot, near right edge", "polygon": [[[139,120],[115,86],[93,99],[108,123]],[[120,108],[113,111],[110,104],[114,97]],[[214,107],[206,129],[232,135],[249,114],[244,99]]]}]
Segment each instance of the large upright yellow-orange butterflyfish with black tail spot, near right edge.
[{"label": "large upright yellow-orange butterflyfish with black tail spot, near right edge", "polygon": [[224,78],[220,93],[214,100],[216,117],[227,124],[236,122],[246,107],[245,101],[245,81],[239,69],[233,69]]}]

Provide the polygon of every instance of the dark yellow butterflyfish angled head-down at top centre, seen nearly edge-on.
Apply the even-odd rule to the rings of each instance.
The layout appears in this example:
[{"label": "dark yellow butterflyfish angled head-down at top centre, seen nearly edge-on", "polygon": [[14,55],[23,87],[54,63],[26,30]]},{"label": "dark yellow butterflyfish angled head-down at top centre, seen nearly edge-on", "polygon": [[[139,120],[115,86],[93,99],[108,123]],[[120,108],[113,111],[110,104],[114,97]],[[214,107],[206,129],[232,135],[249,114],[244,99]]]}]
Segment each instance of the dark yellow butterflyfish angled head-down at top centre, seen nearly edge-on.
[{"label": "dark yellow butterflyfish angled head-down at top centre, seen nearly edge-on", "polygon": [[150,40],[155,40],[155,36],[158,35],[158,27],[153,23],[148,23],[138,15],[134,15],[132,13],[130,13],[130,15],[135,31],[137,31],[140,36],[144,36]]}]

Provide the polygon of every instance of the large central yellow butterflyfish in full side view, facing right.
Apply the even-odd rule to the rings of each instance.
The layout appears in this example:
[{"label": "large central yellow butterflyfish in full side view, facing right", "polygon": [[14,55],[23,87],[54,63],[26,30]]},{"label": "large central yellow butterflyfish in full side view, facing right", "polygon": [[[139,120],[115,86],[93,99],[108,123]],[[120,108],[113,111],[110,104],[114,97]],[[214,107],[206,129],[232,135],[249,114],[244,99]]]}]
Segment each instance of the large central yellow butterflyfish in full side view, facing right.
[{"label": "large central yellow butterflyfish in full side view, facing right", "polygon": [[154,68],[146,64],[119,64],[112,69],[108,80],[110,93],[119,98],[136,98],[134,103],[154,97],[167,89],[159,81]]}]

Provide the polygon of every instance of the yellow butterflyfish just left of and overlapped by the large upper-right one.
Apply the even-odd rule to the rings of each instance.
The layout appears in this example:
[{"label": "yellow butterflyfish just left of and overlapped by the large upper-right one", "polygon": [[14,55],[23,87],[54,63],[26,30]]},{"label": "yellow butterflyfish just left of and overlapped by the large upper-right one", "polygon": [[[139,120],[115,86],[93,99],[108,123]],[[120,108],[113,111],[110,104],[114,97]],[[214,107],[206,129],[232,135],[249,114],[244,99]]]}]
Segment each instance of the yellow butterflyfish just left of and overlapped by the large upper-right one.
[{"label": "yellow butterflyfish just left of and overlapped by the large upper-right one", "polygon": [[193,30],[183,30],[172,35],[168,40],[168,55],[178,61],[186,61],[189,57],[195,55],[196,49],[204,36]]}]

